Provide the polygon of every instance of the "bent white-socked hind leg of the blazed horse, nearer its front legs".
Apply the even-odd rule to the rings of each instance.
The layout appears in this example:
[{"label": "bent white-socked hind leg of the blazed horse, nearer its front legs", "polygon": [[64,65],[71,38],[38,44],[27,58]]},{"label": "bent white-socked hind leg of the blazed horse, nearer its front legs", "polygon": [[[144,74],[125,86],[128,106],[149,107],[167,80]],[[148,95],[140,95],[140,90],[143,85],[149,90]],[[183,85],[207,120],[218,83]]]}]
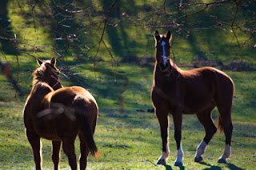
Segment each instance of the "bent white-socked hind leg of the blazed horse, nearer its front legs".
[{"label": "bent white-socked hind leg of the blazed horse, nearer its front legs", "polygon": [[197,114],[198,120],[201,122],[201,124],[205,128],[206,136],[198,145],[197,152],[194,156],[195,162],[202,161],[202,155],[206,150],[207,144],[209,144],[211,138],[214,136],[215,132],[217,131],[217,128],[215,127],[214,122],[211,118],[211,111],[213,108],[214,107],[210,109],[206,109],[204,112]]}]

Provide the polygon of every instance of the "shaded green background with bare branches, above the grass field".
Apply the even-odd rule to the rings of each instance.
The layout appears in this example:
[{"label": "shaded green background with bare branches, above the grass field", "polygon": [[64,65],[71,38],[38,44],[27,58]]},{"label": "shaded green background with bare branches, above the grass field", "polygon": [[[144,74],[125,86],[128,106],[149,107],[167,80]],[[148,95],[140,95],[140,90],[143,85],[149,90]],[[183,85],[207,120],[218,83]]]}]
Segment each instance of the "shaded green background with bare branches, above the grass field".
[{"label": "shaded green background with bare branches, above the grass field", "polygon": [[196,61],[254,64],[255,9],[255,0],[2,0],[0,48],[17,61],[49,55],[117,64],[151,56],[154,30],[171,30],[174,56],[184,56],[178,47],[186,41]]}]

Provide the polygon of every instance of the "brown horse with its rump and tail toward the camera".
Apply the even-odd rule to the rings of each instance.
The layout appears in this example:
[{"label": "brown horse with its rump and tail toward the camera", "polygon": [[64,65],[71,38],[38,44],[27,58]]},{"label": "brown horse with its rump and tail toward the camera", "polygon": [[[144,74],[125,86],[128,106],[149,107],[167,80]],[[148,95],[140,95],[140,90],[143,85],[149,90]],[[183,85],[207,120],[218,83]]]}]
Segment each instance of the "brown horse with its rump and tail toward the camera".
[{"label": "brown horse with its rump and tail toward the camera", "polygon": [[52,160],[58,169],[60,148],[68,157],[72,170],[77,169],[74,140],[80,139],[80,169],[86,169],[89,152],[97,159],[94,130],[98,118],[98,105],[94,97],[82,87],[62,88],[56,59],[37,59],[38,69],[33,76],[33,87],[24,107],[26,136],[30,141],[37,170],[41,169],[40,137],[52,140]]}]

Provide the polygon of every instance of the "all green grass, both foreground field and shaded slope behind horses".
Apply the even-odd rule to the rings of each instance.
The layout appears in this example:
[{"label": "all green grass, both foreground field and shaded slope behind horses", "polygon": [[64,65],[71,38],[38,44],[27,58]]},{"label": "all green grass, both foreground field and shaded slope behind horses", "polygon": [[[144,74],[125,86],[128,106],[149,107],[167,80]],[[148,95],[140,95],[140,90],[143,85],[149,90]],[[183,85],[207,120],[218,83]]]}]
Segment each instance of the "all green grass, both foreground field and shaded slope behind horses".
[{"label": "all green grass, both foreground field and shaded slope behind horses", "polygon": [[[90,156],[88,169],[254,169],[256,158],[256,74],[254,71],[224,70],[233,78],[236,89],[232,117],[234,135],[230,164],[217,163],[225,145],[223,133],[217,133],[211,140],[203,163],[194,163],[195,150],[204,136],[204,130],[197,118],[190,115],[183,117],[184,168],[173,166],[176,147],[172,119],[170,119],[170,158],[166,166],[155,165],[161,154],[162,142],[158,120],[154,117],[154,113],[148,112],[153,108],[150,101],[154,65],[153,34],[155,29],[158,29],[160,33],[166,33],[169,28],[150,28],[149,24],[160,26],[162,22],[159,19],[175,18],[175,14],[168,14],[168,11],[173,11],[176,8],[174,4],[166,2],[167,13],[164,16],[158,16],[158,14],[151,15],[151,13],[154,10],[161,10],[163,5],[161,1],[134,1],[134,3],[127,2],[126,6],[122,6],[121,1],[118,10],[126,12],[127,15],[120,17],[118,12],[114,11],[109,22],[113,23],[119,20],[120,22],[118,22],[118,26],[107,25],[103,37],[115,62],[103,44],[100,45],[97,56],[95,55],[96,47],[90,49],[89,52],[84,47],[86,45],[91,48],[97,44],[102,35],[103,25],[78,32],[80,44],[70,42],[70,49],[67,49],[66,53],[62,53],[62,43],[54,40],[55,32],[52,30],[54,24],[49,22],[49,17],[42,13],[38,7],[40,4],[35,6],[35,20],[33,20],[30,6],[22,1],[18,2],[21,8],[17,1],[8,1],[8,17],[11,21],[12,33],[18,35],[18,48],[21,53],[18,53],[18,62],[16,56],[10,54],[1,54],[0,60],[10,62],[14,78],[18,80],[22,91],[28,95],[31,89],[31,73],[37,66],[34,57],[50,59],[60,53],[62,56],[58,57],[58,66],[66,75],[61,77],[62,84],[64,86],[80,85],[93,93],[100,110],[94,139],[102,156],[98,161]],[[50,1],[46,0],[46,2]],[[94,5],[97,10],[109,10],[111,3],[105,4],[105,6],[102,3],[103,1],[88,2],[85,6]],[[230,14],[230,10],[226,11],[225,8],[223,10],[222,6],[217,7],[218,19],[222,19],[221,14]],[[147,11],[146,9],[151,10]],[[204,15],[200,13],[200,16],[195,16],[195,19],[191,18],[191,21],[199,18],[207,20],[209,23],[206,23],[209,25],[212,24],[209,16],[216,13],[217,10],[214,11],[214,9],[207,10],[207,13],[203,13]],[[241,20],[242,10],[239,12],[238,17]],[[138,18],[144,17],[146,20],[138,21]],[[229,17],[230,15],[226,16],[226,18]],[[226,18],[223,18],[223,22]],[[77,14],[72,23],[76,26],[77,24],[86,25],[89,23],[87,19],[87,15],[85,17],[83,14]],[[90,19],[99,21],[102,16],[91,14]],[[34,23],[36,29],[34,29]],[[195,24],[197,23],[195,22]],[[96,28],[99,30],[96,31]],[[254,45],[253,40],[241,50],[238,49],[229,26],[201,31],[193,30],[188,37],[186,37],[186,30],[178,32],[173,28],[170,29],[174,33],[172,45],[178,65],[194,65],[194,59],[199,58],[212,62],[221,61],[223,65],[231,65],[233,60],[243,61],[253,65],[252,67],[255,69],[254,49],[251,48]],[[73,34],[73,32],[67,31],[67,34]],[[237,32],[237,34],[241,43],[246,41],[249,36],[241,32]],[[77,53],[80,50],[84,50],[82,54]],[[28,56],[27,53],[34,57]],[[245,66],[243,67],[246,69]],[[26,140],[22,118],[26,97],[18,97],[2,74],[0,74],[0,87],[0,169],[34,169],[34,158],[30,144]],[[216,119],[216,110],[213,115]],[[77,157],[79,156],[78,146],[79,141],[76,140]],[[50,141],[42,140],[43,169],[53,169],[50,152]],[[59,167],[60,169],[70,169],[63,152]]]}]

